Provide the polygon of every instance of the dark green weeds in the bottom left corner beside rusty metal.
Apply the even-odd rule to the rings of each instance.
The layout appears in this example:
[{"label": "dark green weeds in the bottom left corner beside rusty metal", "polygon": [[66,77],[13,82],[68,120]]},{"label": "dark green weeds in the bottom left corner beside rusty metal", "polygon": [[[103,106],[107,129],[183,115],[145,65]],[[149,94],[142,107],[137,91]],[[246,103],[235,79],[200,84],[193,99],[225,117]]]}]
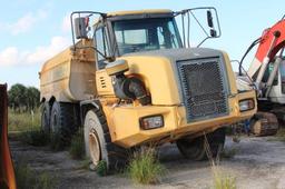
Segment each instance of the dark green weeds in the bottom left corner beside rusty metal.
[{"label": "dark green weeds in the bottom left corner beside rusty metal", "polygon": [[14,163],[17,188],[20,189],[51,189],[58,185],[58,179],[49,172],[32,170],[23,159]]}]

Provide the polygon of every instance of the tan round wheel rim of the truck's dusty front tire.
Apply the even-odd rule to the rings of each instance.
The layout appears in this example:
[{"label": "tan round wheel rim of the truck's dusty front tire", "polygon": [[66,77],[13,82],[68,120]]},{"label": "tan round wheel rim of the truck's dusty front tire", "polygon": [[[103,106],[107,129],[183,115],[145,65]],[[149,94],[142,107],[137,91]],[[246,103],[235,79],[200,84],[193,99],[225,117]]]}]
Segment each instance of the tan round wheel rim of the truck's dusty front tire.
[{"label": "tan round wheel rim of the truck's dusty front tire", "polygon": [[89,132],[89,151],[92,163],[97,166],[100,161],[100,145],[96,131],[94,130]]}]

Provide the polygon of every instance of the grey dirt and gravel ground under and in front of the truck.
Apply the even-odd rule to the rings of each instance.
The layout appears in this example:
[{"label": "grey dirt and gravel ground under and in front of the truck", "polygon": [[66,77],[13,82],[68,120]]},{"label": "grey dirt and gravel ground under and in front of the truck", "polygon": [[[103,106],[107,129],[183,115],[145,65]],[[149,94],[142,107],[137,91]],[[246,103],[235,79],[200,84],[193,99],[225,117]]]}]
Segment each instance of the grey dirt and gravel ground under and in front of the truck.
[{"label": "grey dirt and gravel ground under and in front of the truck", "polygon": [[[134,185],[125,175],[98,177],[96,172],[82,169],[80,161],[71,160],[67,151],[52,152],[18,141],[10,145],[13,158],[26,157],[33,169],[57,176],[59,188],[213,188],[209,162],[186,160],[175,145],[166,145],[159,150],[167,175],[156,186]],[[242,138],[239,143],[234,143],[227,138],[225,150],[232,151],[232,157],[220,161],[220,169],[236,178],[238,189],[285,189],[284,142],[267,137]]]}]

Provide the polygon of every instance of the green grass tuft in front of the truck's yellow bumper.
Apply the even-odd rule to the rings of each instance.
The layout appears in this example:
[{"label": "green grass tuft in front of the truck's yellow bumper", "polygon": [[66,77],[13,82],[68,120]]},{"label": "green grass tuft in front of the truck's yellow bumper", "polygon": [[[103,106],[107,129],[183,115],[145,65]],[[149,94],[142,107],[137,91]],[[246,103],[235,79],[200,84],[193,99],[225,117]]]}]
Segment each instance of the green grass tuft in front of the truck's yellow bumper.
[{"label": "green grass tuft in front of the truck's yellow bumper", "polygon": [[136,183],[150,185],[160,181],[166,168],[158,161],[154,148],[141,148],[134,152],[127,175]]}]

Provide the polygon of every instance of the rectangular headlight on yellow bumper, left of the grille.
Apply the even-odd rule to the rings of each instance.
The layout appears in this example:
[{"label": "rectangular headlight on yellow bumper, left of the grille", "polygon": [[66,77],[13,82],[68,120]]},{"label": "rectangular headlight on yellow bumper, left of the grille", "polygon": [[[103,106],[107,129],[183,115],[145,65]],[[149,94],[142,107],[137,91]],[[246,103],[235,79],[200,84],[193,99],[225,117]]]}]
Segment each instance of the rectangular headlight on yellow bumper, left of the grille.
[{"label": "rectangular headlight on yellow bumper, left of the grille", "polygon": [[144,130],[164,127],[164,117],[161,115],[147,116],[139,119],[140,128]]}]

